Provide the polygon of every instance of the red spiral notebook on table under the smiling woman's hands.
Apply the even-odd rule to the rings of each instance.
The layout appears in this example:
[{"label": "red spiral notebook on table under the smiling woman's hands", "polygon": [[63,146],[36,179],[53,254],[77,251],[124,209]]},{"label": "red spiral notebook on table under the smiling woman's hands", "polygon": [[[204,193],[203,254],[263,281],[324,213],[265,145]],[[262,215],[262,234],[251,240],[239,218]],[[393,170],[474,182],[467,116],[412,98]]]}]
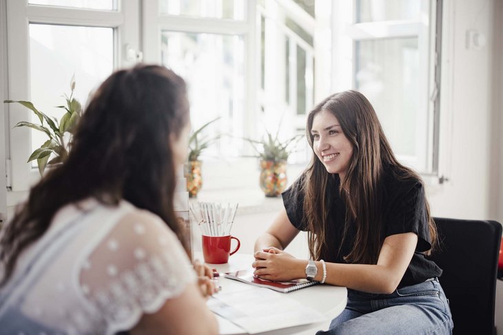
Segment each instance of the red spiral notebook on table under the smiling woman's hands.
[{"label": "red spiral notebook on table under the smiling woman's hands", "polygon": [[239,270],[234,272],[225,272],[225,278],[242,281],[250,285],[259,286],[260,288],[270,288],[278,292],[288,293],[301,288],[308,288],[316,285],[318,281],[308,281],[307,279],[294,279],[291,281],[268,281],[255,277],[251,270]]}]

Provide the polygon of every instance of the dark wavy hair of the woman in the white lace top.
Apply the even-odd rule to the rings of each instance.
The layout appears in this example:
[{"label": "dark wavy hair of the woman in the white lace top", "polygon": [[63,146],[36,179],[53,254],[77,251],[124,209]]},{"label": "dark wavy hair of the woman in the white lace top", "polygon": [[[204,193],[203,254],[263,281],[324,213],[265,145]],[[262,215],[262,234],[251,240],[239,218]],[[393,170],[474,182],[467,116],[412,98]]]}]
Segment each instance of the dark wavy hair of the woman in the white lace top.
[{"label": "dark wavy hair of the woman in the white lace top", "polygon": [[125,199],[165,221],[184,245],[173,209],[176,171],[170,138],[189,122],[185,81],[158,65],[114,72],[92,96],[68,160],[52,169],[18,206],[0,241],[3,283],[23,250],[49,228],[63,206],[94,197],[116,206]]}]

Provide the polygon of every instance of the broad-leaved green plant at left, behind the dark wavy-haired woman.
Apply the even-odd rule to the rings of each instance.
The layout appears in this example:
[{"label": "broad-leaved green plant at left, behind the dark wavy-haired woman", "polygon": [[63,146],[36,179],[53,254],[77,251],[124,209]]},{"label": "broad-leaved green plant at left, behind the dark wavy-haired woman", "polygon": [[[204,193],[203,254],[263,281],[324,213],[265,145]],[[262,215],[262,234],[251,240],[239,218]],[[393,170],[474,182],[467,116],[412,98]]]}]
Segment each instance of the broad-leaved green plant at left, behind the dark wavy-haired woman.
[{"label": "broad-leaved green plant at left, behind the dark wavy-haired woman", "polygon": [[[30,158],[28,158],[28,162],[37,160],[40,175],[43,175],[43,171],[45,171],[45,167],[48,164],[63,163],[68,158],[68,152],[72,147],[72,136],[82,114],[81,103],[73,97],[74,89],[75,79],[72,77],[70,81],[70,97],[65,94],[66,105],[57,106],[57,108],[66,110],[60,121],[57,118],[50,118],[39,111],[30,101],[3,100],[5,103],[19,103],[23,105],[33,111],[40,120],[39,125],[22,121],[18,122],[14,127],[30,127],[42,131],[48,136],[48,140],[39,149],[35,149]],[[52,157],[51,160],[49,160],[50,157]]]}]

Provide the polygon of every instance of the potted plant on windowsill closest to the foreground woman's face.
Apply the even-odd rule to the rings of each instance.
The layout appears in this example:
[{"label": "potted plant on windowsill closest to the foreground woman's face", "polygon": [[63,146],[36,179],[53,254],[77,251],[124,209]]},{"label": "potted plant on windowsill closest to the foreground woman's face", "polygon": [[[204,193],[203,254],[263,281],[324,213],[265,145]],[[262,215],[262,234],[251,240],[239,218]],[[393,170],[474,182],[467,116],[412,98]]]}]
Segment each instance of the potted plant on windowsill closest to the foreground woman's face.
[{"label": "potted plant on windowsill closest to the foreground woman's face", "polygon": [[189,158],[185,169],[185,178],[187,179],[187,191],[189,191],[189,197],[196,197],[197,193],[203,186],[203,177],[201,175],[202,162],[199,160],[199,155],[201,155],[201,153],[209,147],[209,144],[212,144],[220,138],[220,134],[208,138],[203,136],[202,132],[206,127],[218,119],[219,118],[216,118],[205,123],[198,129],[194,130],[189,137]]}]

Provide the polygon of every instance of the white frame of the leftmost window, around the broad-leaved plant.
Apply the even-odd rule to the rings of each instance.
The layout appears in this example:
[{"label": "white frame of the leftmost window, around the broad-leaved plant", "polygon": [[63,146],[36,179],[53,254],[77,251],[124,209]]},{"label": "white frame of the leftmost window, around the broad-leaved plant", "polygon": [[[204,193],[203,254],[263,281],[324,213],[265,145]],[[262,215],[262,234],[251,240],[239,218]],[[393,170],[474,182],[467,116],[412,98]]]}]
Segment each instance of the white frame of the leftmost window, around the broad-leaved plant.
[{"label": "white frame of the leftmost window, around the broad-leaved plant", "polygon": [[[127,57],[127,51],[139,46],[139,3],[122,0],[114,11],[88,10],[56,6],[28,5],[28,1],[7,0],[7,56],[8,97],[12,100],[30,99],[30,23],[56,25],[82,25],[114,28],[114,68],[132,65],[136,58]],[[36,104],[36,102],[35,102]],[[27,127],[12,129],[18,122],[30,120],[28,109],[17,104],[4,107],[8,111],[8,188],[7,206],[14,206],[27,195],[28,188],[39,180],[38,169],[26,160],[31,148],[31,130]]]}]

